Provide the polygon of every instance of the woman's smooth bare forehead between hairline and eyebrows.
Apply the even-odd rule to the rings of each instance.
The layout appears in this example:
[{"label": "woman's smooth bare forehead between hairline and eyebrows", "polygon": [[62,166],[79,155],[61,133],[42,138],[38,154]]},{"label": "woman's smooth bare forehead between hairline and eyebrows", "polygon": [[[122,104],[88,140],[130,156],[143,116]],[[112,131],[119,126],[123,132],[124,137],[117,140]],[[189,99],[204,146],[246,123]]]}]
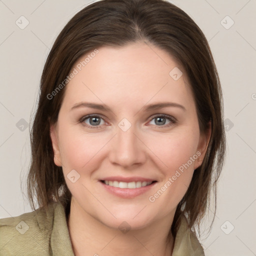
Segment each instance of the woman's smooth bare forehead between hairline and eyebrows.
[{"label": "woman's smooth bare forehead between hairline and eyebrows", "polygon": [[[144,42],[92,50],[75,62],[73,70],[76,74],[65,88],[64,101],[68,104],[86,99],[119,106],[138,101],[192,100],[182,67],[166,51]],[[173,79],[172,70],[181,76]]]}]

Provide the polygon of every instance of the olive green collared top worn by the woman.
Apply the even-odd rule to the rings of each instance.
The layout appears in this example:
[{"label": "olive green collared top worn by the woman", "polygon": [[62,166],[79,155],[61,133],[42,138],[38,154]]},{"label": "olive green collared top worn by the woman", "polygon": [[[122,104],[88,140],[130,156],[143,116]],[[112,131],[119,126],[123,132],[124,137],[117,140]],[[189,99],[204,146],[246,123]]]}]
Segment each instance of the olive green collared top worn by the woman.
[{"label": "olive green collared top worn by the woman", "polygon": [[[0,255],[74,256],[66,209],[60,202],[16,217],[0,219]],[[204,256],[185,217],[177,231],[172,256]]]}]

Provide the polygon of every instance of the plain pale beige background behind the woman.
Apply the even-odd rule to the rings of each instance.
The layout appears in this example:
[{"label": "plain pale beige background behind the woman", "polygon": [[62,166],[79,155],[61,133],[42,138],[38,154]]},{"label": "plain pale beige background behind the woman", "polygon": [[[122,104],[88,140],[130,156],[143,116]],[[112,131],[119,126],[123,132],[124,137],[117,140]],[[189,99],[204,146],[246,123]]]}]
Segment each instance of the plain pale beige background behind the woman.
[{"label": "plain pale beige background behind the woman", "polygon": [[[31,210],[20,185],[30,160],[26,124],[36,106],[40,74],[54,39],[89,2],[0,0],[0,218]],[[256,1],[171,2],[188,13],[208,39],[224,96],[227,157],[213,228],[200,241],[207,256],[256,255]],[[26,19],[29,24],[21,29]]]}]

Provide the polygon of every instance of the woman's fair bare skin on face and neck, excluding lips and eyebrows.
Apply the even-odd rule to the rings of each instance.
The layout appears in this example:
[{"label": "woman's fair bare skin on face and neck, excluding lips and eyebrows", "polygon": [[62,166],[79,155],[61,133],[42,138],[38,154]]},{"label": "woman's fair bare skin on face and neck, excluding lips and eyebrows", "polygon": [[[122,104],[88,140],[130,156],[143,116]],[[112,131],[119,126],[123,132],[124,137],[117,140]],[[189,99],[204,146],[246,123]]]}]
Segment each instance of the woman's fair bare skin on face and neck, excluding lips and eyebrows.
[{"label": "woman's fair bare skin on face and neck, excluding lips and eyebrows", "polygon": [[[167,234],[175,209],[201,162],[192,161],[154,202],[148,198],[197,151],[203,159],[210,130],[200,133],[190,86],[184,72],[176,81],[169,75],[172,68],[182,67],[166,51],[144,42],[98,50],[66,85],[57,123],[50,128],[54,162],[62,166],[72,194],[68,229],[74,253],[170,255],[174,241],[171,237],[168,242]],[[174,106],[142,109],[162,101],[181,104],[185,110]],[[111,111],[70,110],[80,102],[105,104]],[[98,128],[93,128],[90,118],[79,122],[88,114],[102,117]],[[166,118],[157,125],[155,118],[161,114],[176,122]],[[126,131],[118,126],[123,118],[131,124]],[[80,175],[74,183],[67,178],[72,169]],[[157,182],[143,194],[121,198],[106,191],[99,181],[116,175]],[[131,227],[127,233],[118,228],[123,221]]]}]

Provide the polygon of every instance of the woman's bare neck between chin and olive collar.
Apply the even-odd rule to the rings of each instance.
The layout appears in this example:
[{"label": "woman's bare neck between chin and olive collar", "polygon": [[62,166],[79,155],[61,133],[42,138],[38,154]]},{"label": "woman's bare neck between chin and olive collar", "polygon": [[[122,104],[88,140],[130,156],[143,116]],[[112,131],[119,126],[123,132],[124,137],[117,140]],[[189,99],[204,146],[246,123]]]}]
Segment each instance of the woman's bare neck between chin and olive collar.
[{"label": "woman's bare neck between chin and olive collar", "polygon": [[121,232],[106,226],[71,200],[67,225],[75,256],[170,256],[174,244],[173,236],[169,236],[173,215],[141,229]]}]

